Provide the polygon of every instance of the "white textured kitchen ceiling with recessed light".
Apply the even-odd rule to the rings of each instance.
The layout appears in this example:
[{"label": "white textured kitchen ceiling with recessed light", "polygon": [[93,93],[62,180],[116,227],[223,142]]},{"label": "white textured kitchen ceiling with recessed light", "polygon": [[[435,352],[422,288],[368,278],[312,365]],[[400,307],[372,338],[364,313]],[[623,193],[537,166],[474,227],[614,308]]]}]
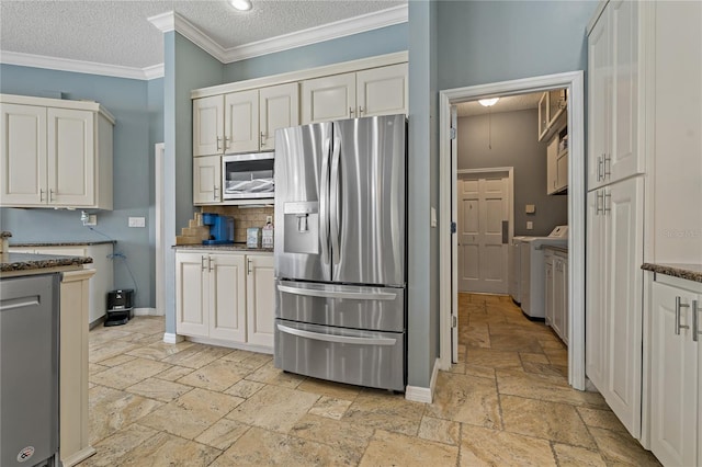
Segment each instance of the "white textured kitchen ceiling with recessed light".
[{"label": "white textured kitchen ceiling with recessed light", "polygon": [[0,50],[147,68],[163,62],[163,35],[147,19],[183,16],[231,48],[406,4],[407,0],[0,1]]}]

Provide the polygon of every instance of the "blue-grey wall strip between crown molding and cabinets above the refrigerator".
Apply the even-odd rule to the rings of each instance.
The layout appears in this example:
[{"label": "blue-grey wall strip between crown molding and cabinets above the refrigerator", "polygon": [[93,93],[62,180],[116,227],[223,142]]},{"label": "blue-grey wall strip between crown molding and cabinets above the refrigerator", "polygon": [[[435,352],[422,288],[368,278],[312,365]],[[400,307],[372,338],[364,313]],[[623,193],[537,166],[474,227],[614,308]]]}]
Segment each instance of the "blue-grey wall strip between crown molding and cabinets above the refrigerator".
[{"label": "blue-grey wall strip between crown molding and cabinets above the refrigerator", "polygon": [[241,81],[407,50],[407,23],[225,65],[224,82]]}]

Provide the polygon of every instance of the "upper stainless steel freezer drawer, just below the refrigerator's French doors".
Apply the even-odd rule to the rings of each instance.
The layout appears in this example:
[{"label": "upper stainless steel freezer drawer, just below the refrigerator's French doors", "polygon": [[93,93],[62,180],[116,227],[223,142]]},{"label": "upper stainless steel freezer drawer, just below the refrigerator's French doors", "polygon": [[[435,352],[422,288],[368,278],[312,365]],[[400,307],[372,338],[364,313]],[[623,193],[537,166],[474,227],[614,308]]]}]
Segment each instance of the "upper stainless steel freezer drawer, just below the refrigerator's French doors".
[{"label": "upper stainless steel freezer drawer, just below the refrigerator's French doors", "polygon": [[374,331],[405,331],[405,289],[278,281],[275,317]]}]

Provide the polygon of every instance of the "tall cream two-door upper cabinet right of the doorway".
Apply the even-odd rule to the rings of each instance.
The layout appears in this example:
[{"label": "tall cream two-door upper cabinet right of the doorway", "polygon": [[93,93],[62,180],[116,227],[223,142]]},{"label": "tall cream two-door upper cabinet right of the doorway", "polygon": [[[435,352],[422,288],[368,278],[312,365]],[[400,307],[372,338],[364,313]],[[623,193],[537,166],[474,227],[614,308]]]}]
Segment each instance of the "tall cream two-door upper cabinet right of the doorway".
[{"label": "tall cream two-door upper cabinet right of the doorway", "polygon": [[589,190],[645,171],[638,148],[639,8],[610,1],[588,36]]}]

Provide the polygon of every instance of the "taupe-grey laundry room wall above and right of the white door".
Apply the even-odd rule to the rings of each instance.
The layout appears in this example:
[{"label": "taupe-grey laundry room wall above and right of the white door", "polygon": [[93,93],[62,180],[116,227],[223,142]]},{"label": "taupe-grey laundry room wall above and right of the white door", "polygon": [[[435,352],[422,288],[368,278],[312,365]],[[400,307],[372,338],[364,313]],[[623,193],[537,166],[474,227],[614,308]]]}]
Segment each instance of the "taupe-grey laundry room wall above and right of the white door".
[{"label": "taupe-grey laundry room wall above and right of the white door", "polygon": [[[567,196],[546,194],[546,143],[539,143],[537,125],[535,109],[458,118],[458,169],[514,168],[516,236],[546,236],[568,224]],[[534,204],[536,213],[524,214],[524,204]],[[533,230],[526,230],[528,220],[534,223]]]}]

